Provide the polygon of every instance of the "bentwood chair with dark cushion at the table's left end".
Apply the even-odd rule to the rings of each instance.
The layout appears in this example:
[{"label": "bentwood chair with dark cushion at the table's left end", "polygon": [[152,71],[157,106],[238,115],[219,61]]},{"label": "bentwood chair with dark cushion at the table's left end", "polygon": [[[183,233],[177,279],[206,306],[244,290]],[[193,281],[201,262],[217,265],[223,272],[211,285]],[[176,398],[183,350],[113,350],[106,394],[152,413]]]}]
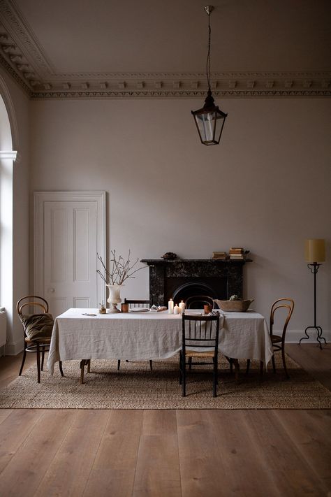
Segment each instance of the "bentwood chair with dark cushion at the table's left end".
[{"label": "bentwood chair with dark cushion at the table's left end", "polygon": [[[37,308],[39,314],[23,314],[22,310],[28,307]],[[48,313],[48,303],[45,301],[45,298],[36,295],[27,295],[20,298],[20,300],[17,301],[16,310],[18,316],[20,317],[24,331],[24,352],[20,373],[18,373],[18,375],[22,375],[27,352],[35,352],[37,359],[38,383],[40,383],[41,371],[44,366],[45,352],[50,350],[50,340],[52,337],[54,319],[52,315]],[[61,361],[59,361],[59,370],[61,376],[64,376]]]}]

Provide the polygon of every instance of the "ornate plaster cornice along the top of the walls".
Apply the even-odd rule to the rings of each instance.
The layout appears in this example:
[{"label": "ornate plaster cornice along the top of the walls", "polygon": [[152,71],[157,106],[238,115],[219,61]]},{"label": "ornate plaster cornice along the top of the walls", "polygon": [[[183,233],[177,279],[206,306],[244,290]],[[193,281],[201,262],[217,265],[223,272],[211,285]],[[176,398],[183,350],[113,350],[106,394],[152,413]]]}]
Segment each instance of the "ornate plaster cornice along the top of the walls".
[{"label": "ornate plaster cornice along the top of the walls", "polygon": [[[0,64],[31,99],[203,97],[205,73],[55,73],[27,22],[0,0]],[[331,72],[228,72],[212,74],[222,98],[331,96]]]}]

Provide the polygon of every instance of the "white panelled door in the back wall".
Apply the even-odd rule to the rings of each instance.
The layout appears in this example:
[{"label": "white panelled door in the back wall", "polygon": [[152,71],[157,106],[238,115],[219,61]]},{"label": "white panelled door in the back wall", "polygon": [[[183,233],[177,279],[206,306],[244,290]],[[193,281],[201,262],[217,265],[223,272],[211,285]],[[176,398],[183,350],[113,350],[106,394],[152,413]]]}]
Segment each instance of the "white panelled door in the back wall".
[{"label": "white panelled door in the back wall", "polygon": [[[88,193],[35,194],[35,288],[54,317],[68,308],[96,308],[104,300],[96,274],[96,253],[104,254],[105,249],[100,233],[104,215],[98,201],[86,199]],[[36,208],[40,196],[43,201]]]}]

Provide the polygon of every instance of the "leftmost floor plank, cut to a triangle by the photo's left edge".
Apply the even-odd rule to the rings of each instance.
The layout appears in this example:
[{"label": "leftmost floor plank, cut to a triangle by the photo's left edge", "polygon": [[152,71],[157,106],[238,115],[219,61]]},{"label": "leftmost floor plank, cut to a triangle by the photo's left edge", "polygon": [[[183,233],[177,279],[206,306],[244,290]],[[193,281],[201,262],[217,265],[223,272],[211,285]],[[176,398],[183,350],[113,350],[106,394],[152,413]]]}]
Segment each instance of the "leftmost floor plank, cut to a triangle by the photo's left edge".
[{"label": "leftmost floor plank, cut to a triangle by the photo's left edge", "polygon": [[38,409],[12,410],[0,424],[0,477],[42,415]]}]

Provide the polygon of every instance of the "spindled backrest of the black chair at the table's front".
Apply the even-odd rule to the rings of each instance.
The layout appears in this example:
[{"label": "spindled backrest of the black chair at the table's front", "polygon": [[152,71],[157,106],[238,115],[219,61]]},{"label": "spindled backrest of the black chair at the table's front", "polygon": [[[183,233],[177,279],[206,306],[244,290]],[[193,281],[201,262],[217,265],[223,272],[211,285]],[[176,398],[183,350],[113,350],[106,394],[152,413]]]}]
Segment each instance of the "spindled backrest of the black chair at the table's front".
[{"label": "spindled backrest of the black chair at the table's front", "polygon": [[215,356],[219,347],[219,314],[182,316],[182,350],[185,354],[186,347],[195,349],[214,349]]}]

